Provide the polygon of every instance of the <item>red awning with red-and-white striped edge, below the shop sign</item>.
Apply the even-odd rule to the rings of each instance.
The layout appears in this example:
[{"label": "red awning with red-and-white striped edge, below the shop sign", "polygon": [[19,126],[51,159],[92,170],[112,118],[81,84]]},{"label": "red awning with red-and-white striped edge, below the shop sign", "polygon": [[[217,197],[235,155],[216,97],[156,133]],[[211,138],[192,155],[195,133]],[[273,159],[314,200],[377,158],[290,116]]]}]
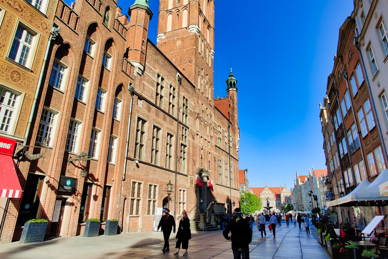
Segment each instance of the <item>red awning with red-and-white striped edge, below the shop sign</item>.
[{"label": "red awning with red-and-white striped edge, below the shop sign", "polygon": [[0,197],[20,198],[22,188],[16,174],[14,159],[0,154]]}]

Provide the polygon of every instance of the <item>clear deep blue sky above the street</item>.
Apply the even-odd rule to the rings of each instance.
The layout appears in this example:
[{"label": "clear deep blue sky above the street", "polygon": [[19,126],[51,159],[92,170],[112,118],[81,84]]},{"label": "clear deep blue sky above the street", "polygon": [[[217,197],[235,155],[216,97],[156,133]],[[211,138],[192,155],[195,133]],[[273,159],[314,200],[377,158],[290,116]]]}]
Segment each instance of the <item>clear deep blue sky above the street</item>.
[{"label": "clear deep blue sky above the street", "polygon": [[[119,0],[127,13],[134,0]],[[149,38],[156,44],[159,1]],[[318,103],[326,93],[338,31],[353,0],[215,1],[214,95],[238,80],[239,167],[251,187],[293,187],[309,167],[324,169]]]}]

